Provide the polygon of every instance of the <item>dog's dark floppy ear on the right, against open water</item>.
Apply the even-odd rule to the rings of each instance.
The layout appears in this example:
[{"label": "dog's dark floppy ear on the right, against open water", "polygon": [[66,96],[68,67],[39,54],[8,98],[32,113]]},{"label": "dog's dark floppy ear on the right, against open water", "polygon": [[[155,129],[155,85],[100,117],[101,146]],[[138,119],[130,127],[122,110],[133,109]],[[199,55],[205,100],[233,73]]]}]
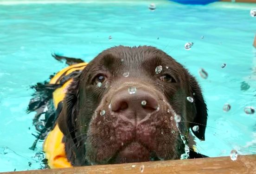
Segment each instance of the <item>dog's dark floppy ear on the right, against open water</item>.
[{"label": "dog's dark floppy ear on the right, against open water", "polygon": [[201,92],[201,88],[198,85],[196,79],[191,75],[190,76],[190,92],[192,93],[192,98],[194,99],[195,104],[195,116],[193,119],[193,123],[190,124],[190,128],[192,129],[195,125],[199,126],[198,131],[193,131],[194,135],[198,137],[200,140],[205,140],[205,129],[207,124],[207,106],[205,104],[204,97]]}]

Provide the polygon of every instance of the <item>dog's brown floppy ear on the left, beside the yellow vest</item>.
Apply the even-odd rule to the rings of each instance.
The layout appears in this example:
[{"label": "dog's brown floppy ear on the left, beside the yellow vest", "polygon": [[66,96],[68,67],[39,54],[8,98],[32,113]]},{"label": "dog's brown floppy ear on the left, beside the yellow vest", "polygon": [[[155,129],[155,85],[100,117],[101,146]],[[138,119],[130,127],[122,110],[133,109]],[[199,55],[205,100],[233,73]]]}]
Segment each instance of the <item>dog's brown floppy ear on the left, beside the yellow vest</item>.
[{"label": "dog's brown floppy ear on the left, beside the yellow vest", "polygon": [[71,138],[75,138],[74,128],[79,99],[79,79],[80,75],[74,77],[73,81],[70,83],[63,101],[62,110],[58,117],[58,126],[60,131],[62,131],[65,136],[70,136]]}]

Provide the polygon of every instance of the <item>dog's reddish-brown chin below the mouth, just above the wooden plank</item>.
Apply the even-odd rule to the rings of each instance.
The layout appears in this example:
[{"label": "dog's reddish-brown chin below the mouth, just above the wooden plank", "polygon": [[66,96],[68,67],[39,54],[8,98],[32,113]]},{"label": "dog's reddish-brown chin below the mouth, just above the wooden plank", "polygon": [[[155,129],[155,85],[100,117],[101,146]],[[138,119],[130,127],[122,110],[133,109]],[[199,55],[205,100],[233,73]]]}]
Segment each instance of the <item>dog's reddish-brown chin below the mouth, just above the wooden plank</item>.
[{"label": "dog's reddish-brown chin below the mouth, just above the wooden plank", "polygon": [[123,147],[115,156],[114,163],[150,161],[150,151],[141,143],[132,142]]}]

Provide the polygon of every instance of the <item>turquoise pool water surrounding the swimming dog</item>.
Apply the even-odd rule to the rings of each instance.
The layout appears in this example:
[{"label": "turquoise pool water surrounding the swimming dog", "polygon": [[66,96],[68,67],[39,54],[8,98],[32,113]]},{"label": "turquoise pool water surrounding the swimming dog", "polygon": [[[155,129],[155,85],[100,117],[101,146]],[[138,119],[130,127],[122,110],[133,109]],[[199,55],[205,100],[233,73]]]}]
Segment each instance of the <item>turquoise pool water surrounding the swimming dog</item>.
[{"label": "turquoise pool water surrounding the swimming dog", "polygon": [[[35,129],[26,107],[29,86],[65,67],[51,53],[89,62],[120,44],[156,46],[197,77],[209,109],[206,141],[197,141],[202,154],[256,153],[256,114],[243,111],[256,107],[256,18],[250,16],[256,4],[161,0],[150,11],[149,1],[72,2],[0,0],[0,172],[40,168],[42,142],[28,149]],[[191,50],[184,49],[187,42],[194,43]],[[223,112],[225,103],[229,112]]]}]

